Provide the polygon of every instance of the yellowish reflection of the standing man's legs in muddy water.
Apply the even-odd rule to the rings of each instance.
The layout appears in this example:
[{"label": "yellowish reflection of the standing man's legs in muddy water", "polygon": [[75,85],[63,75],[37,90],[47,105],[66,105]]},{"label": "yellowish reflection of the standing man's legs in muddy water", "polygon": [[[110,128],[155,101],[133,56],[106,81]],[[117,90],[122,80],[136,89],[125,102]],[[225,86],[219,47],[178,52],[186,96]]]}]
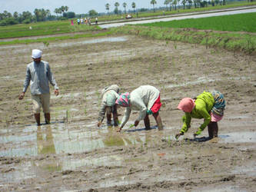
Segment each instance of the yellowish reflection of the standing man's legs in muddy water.
[{"label": "yellowish reflection of the standing man's legs in muddy water", "polygon": [[[37,144],[38,144],[38,154],[56,154],[55,143],[52,137],[52,127],[47,125],[45,131],[41,130],[41,127],[38,126],[37,131]],[[46,137],[43,135],[46,134]]]}]

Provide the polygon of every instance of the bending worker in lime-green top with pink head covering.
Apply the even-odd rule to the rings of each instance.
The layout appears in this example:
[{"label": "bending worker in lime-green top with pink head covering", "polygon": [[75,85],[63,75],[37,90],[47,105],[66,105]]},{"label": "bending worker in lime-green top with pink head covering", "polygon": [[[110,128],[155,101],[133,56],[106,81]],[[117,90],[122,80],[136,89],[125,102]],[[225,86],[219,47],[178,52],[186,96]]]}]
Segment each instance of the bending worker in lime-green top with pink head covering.
[{"label": "bending worker in lime-green top with pink head covering", "polygon": [[178,109],[185,112],[182,121],[183,127],[176,138],[183,135],[190,127],[191,118],[204,118],[204,123],[194,133],[194,137],[201,134],[201,131],[208,126],[209,138],[218,137],[218,121],[221,121],[224,115],[226,102],[224,96],[219,91],[205,92],[199,94],[193,100],[191,98],[183,98],[178,104]]}]

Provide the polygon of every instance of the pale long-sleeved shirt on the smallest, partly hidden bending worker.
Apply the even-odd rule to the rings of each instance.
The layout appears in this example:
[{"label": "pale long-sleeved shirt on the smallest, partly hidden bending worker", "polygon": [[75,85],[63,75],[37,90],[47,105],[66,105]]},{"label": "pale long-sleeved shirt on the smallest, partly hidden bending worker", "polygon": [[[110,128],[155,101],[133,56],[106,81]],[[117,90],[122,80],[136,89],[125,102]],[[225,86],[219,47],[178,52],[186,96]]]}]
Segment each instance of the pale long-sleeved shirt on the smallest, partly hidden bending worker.
[{"label": "pale long-sleeved shirt on the smallest, partly hidden bending worker", "polygon": [[109,87],[106,87],[102,89],[101,91],[101,107],[100,111],[98,113],[98,121],[103,121],[105,118],[105,107],[107,106],[107,95],[108,94],[113,94],[116,95],[116,98],[118,98],[118,93],[119,93],[120,88],[118,87],[117,84],[112,84]]}]

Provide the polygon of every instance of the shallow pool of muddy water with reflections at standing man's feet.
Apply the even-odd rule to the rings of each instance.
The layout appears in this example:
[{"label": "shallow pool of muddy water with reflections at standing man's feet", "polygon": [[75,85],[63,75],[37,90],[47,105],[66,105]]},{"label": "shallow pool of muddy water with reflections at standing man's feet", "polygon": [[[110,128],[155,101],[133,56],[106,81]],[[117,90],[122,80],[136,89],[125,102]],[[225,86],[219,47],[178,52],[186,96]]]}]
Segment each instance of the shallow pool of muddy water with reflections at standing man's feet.
[{"label": "shallow pool of muddy water with reflections at standing man's feet", "polygon": [[[90,127],[84,124],[53,122],[51,125],[28,125],[23,129],[22,127],[1,129],[0,144],[8,147],[0,151],[0,157],[81,153],[102,147],[127,146],[145,142],[145,133],[137,134],[138,137],[135,138],[125,134],[115,134],[115,127],[93,127],[95,124],[91,124]],[[138,130],[144,129],[141,127]],[[128,127],[125,127],[124,131],[129,131]]]}]

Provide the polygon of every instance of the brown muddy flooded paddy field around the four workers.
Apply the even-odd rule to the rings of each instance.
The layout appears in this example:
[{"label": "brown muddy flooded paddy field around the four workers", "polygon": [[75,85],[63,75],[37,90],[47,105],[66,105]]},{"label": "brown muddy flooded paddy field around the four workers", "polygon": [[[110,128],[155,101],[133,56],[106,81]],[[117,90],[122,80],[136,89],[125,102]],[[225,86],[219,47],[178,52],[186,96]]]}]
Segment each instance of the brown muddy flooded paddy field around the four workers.
[{"label": "brown muddy flooded paddy field around the four workers", "polygon": [[[60,95],[52,91],[52,124],[35,125],[29,90],[18,101],[33,48],[43,51]],[[0,46],[0,190],[254,191],[256,187],[256,56],[135,36]],[[151,84],[161,91],[165,125],[143,122],[121,133],[96,126],[101,88],[121,92]],[[219,137],[192,120],[175,141],[181,98],[221,91],[227,108]],[[118,108],[119,120],[124,108]],[[44,121],[42,115],[42,121]]]}]

